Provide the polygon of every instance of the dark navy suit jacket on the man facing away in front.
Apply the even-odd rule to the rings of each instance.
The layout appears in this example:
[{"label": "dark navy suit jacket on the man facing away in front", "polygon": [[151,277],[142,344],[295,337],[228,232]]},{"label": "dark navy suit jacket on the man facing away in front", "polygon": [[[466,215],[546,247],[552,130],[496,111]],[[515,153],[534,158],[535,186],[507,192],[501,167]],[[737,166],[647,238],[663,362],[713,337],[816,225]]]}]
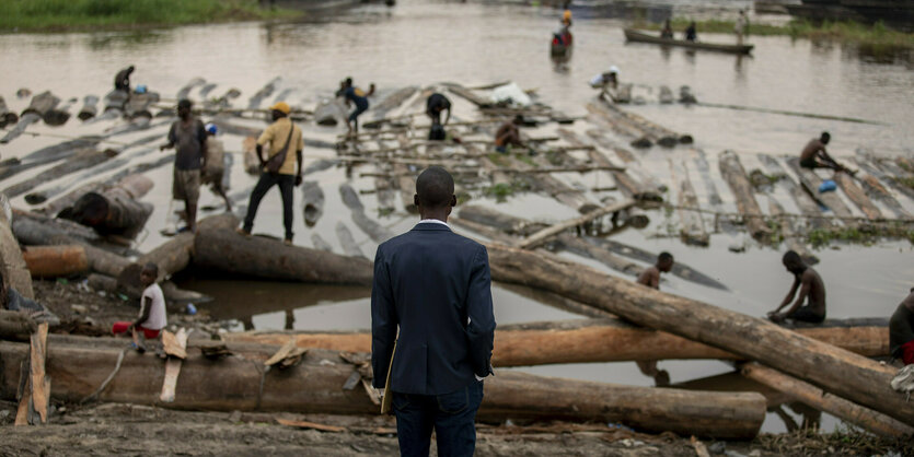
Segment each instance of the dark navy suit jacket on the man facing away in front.
[{"label": "dark navy suit jacket on the man facing away in front", "polygon": [[[467,324],[468,320],[468,324]],[[485,246],[443,224],[419,223],[378,246],[371,288],[371,365],[391,390],[440,395],[491,373],[495,337]]]}]

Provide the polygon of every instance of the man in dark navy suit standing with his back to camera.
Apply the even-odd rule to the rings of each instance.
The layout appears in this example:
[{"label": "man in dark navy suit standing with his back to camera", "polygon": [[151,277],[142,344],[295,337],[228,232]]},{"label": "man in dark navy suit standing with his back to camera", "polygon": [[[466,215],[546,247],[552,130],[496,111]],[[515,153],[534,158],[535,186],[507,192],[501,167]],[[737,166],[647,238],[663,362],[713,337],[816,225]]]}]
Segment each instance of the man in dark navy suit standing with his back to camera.
[{"label": "man in dark navy suit standing with his back to camera", "polygon": [[421,221],[374,258],[374,387],[384,387],[391,366],[402,456],[428,456],[432,429],[439,456],[472,456],[495,337],[488,253],[448,226],[456,197],[444,168],[419,175],[415,203]]}]

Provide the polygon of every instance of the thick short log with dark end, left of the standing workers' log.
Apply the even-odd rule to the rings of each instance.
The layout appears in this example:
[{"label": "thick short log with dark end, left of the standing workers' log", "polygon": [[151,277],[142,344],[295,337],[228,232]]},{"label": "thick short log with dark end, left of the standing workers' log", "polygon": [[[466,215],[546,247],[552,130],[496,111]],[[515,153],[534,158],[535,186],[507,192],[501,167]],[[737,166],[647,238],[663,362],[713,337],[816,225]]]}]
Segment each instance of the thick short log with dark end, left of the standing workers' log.
[{"label": "thick short log with dark end, left of the standing workers' log", "polygon": [[[148,179],[148,178],[147,178]],[[136,236],[152,214],[152,203],[138,201],[134,186],[142,179],[120,183],[80,197],[59,216],[92,227],[102,235]]]}]

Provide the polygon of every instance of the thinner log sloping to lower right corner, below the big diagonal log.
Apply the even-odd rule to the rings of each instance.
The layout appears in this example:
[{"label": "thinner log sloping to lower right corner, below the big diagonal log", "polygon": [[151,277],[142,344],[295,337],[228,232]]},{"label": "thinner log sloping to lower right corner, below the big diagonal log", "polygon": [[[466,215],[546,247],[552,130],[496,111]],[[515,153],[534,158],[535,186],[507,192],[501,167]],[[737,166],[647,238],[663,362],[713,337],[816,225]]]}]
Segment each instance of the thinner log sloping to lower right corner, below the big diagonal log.
[{"label": "thinner log sloping to lower right corner, below the big diagonal log", "polygon": [[796,401],[828,412],[877,435],[891,437],[909,437],[914,435],[914,427],[910,425],[823,391],[809,383],[788,376],[777,370],[768,368],[755,362],[743,364],[741,370],[743,376],[752,380],[777,389]]}]

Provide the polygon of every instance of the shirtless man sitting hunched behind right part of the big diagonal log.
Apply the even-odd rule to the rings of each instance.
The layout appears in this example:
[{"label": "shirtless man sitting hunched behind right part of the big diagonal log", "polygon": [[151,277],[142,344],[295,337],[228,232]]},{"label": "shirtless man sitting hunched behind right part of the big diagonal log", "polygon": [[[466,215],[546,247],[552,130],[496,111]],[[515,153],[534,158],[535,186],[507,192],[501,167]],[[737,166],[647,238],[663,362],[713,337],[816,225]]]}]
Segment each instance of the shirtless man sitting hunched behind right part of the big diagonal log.
[{"label": "shirtless man sitting hunched behind right part of the big diagonal log", "polygon": [[[780,302],[780,306],[768,313],[768,319],[773,323],[783,323],[784,319],[789,318],[821,324],[825,320],[825,283],[822,282],[822,278],[812,267],[808,267],[796,251],[788,250],[784,254],[783,262],[784,268],[794,273],[794,285],[790,286],[787,296]],[[797,295],[797,290],[800,291],[799,295]],[[794,306],[790,306],[784,313],[778,313],[783,307],[790,304],[794,295],[797,295]],[[806,302],[806,306],[803,306],[803,302]]]}]

